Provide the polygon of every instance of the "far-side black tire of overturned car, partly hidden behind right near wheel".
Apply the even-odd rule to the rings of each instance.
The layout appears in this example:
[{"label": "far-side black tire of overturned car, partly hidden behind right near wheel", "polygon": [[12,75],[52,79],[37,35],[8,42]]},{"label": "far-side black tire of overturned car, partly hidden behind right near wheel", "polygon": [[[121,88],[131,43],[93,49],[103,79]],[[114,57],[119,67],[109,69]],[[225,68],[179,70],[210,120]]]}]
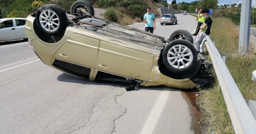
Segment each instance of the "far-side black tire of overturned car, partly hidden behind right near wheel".
[{"label": "far-side black tire of overturned car, partly hidden behind right near wheel", "polygon": [[169,40],[170,41],[174,41],[176,39],[184,39],[189,41],[190,43],[194,43],[194,39],[193,36],[190,32],[188,32],[187,30],[176,30],[174,31],[171,35]]}]

